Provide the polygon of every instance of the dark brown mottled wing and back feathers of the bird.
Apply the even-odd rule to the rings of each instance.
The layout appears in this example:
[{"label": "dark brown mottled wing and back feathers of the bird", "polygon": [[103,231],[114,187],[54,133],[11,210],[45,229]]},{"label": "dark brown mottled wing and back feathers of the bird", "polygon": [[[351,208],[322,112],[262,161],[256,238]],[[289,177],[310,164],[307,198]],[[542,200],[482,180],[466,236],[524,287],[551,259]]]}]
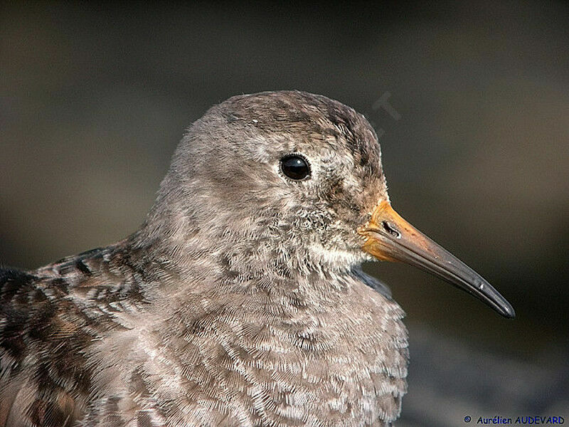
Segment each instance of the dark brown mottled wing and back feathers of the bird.
[{"label": "dark brown mottled wing and back feathers of the bird", "polygon": [[92,344],[145,304],[144,269],[120,243],[33,272],[0,268],[0,427],[75,426],[92,411]]}]

